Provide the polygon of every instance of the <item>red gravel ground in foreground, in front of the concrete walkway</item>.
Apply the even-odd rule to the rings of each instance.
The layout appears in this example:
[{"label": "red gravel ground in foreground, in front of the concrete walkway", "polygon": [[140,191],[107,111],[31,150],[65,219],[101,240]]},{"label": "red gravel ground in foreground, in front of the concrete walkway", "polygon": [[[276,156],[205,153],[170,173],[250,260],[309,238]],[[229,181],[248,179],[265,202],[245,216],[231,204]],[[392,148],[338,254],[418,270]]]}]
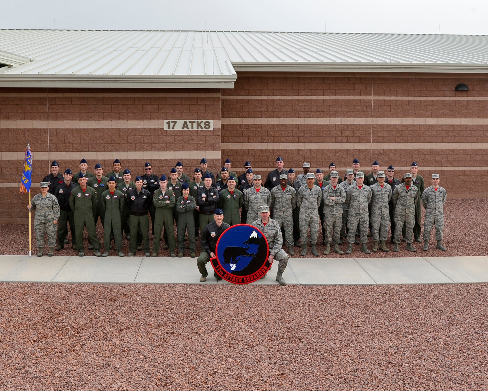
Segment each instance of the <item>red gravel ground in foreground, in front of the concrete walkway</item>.
[{"label": "red gravel ground in foreground, in front of the concrete walkway", "polygon": [[0,284],[1,390],[488,390],[488,284]]}]

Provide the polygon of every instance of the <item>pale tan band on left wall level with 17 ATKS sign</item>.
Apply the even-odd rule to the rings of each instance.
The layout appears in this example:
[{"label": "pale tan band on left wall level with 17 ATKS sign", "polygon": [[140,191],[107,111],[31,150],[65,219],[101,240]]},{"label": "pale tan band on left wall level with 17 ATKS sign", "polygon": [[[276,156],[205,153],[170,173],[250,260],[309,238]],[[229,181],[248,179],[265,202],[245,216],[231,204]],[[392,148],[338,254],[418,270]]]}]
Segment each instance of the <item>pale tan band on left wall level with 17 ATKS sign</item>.
[{"label": "pale tan band on left wall level with 17 ATKS sign", "polygon": [[[174,120],[174,118],[172,118]],[[193,121],[194,119],[190,118]],[[78,120],[61,120],[61,121],[26,121],[26,120],[1,120],[0,129],[164,129],[166,120],[97,120],[97,121],[78,121]],[[198,119],[205,121],[205,119]],[[218,130],[221,126],[220,120],[213,120],[214,129]],[[195,129],[196,130],[196,129]],[[205,129],[200,129],[205,131]],[[172,131],[172,130],[168,130]],[[177,131],[177,130],[175,130]],[[191,131],[191,130],[185,130]],[[208,131],[208,130],[207,130]]]}]

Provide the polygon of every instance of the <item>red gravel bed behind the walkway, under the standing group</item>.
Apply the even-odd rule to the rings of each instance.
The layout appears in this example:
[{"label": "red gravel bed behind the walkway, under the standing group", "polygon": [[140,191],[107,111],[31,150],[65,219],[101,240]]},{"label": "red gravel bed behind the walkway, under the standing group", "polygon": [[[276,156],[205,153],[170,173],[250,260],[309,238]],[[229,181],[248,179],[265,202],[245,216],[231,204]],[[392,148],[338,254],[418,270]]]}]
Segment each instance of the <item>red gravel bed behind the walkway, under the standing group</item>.
[{"label": "red gravel bed behind the walkway, under the standing group", "polygon": [[[447,247],[447,251],[440,251],[435,249],[437,244],[435,241],[435,228],[432,228],[430,233],[430,249],[422,251],[424,246],[422,243],[414,243],[414,247],[417,248],[417,252],[412,253],[405,250],[406,243],[402,242],[400,245],[400,252],[393,252],[393,243],[389,242],[390,233],[388,233],[387,247],[390,249],[388,253],[384,253],[379,250],[377,253],[364,254],[360,251],[361,245],[353,245],[353,252],[350,255],[339,255],[331,253],[324,255],[325,245],[323,243],[322,231],[319,232],[317,251],[321,254],[321,258],[383,258],[383,257],[440,257],[440,256],[481,256],[488,253],[488,242],[486,240],[486,233],[488,232],[488,219],[483,219],[480,214],[485,214],[488,210],[488,198],[476,198],[476,199],[452,199],[448,200],[444,208],[444,240],[443,244]],[[422,227],[425,213],[422,212]],[[103,229],[102,224],[97,224],[97,234],[102,242],[103,246]],[[26,224],[0,224],[0,255],[28,255],[29,254],[29,239],[28,239],[28,226]],[[34,230],[32,232],[32,251],[37,254],[36,239],[34,236]],[[176,225],[175,225],[176,235]],[[423,235],[423,231],[422,231]],[[150,236],[150,248],[153,248],[153,238]],[[88,251],[88,235],[86,230],[85,237],[85,254],[91,255],[91,251]],[[12,240],[12,238],[16,238]],[[68,234],[68,239],[71,241],[71,234]],[[423,239],[423,237],[422,237]],[[47,238],[46,238],[47,240]],[[47,241],[46,241],[47,243]],[[187,243],[187,242],[186,242]],[[200,253],[200,240],[197,240],[197,256]],[[163,246],[161,246],[162,248]],[[346,251],[347,244],[344,243],[341,246],[343,251]],[[368,248],[371,250],[373,247],[372,238],[368,238]],[[44,248],[44,253],[47,254],[48,247]],[[123,239],[122,251],[127,255],[129,252],[129,241]],[[294,258],[300,257],[301,249],[294,248]],[[102,251],[103,252],[103,251]],[[56,251],[55,255],[78,255],[78,252],[71,249],[71,244],[65,245],[61,251]],[[115,249],[110,252],[111,256],[117,256]],[[138,256],[143,256],[142,251],[138,251]],[[160,251],[160,256],[169,257],[168,250]],[[185,257],[189,256],[189,251],[186,250]],[[313,258],[308,249],[308,258]]]}]

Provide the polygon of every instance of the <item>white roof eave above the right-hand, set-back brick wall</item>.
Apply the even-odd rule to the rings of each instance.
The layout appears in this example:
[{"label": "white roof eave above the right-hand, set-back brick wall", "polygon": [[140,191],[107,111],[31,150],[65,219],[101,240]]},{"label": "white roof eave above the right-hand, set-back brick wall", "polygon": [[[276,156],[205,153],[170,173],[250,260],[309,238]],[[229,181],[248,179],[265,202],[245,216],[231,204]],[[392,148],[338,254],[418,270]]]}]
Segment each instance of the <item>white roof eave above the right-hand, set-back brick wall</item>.
[{"label": "white roof eave above the right-hand, set-back brick wall", "polygon": [[488,64],[447,63],[263,63],[232,62],[236,72],[431,72],[488,73]]}]

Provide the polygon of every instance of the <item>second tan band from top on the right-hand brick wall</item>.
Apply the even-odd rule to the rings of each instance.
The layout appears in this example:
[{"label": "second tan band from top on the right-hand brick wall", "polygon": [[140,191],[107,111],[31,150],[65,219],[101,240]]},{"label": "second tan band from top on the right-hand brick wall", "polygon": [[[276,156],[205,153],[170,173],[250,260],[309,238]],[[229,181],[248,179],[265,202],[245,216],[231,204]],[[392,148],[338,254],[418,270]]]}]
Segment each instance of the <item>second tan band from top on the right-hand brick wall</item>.
[{"label": "second tan band from top on the right-hand brick wall", "polygon": [[[221,118],[222,125],[488,125],[488,118]],[[1,125],[0,125],[1,127]]]}]

